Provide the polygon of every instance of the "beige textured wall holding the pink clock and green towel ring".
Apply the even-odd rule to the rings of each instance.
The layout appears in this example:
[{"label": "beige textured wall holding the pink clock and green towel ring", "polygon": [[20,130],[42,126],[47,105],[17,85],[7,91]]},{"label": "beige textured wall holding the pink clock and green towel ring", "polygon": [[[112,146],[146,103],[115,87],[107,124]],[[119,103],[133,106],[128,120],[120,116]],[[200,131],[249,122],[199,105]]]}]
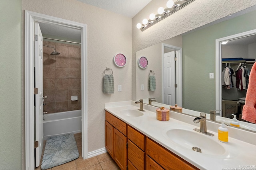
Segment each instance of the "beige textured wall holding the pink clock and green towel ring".
[{"label": "beige textured wall holding the pink clock and green towel ring", "polygon": [[[22,0],[22,10],[87,24],[88,152],[104,148],[104,103],[132,98],[132,19],[77,0]],[[126,66],[114,65],[117,53],[126,56]],[[106,67],[114,72],[114,94],[102,92]],[[118,85],[122,85],[122,92],[117,91]]]}]

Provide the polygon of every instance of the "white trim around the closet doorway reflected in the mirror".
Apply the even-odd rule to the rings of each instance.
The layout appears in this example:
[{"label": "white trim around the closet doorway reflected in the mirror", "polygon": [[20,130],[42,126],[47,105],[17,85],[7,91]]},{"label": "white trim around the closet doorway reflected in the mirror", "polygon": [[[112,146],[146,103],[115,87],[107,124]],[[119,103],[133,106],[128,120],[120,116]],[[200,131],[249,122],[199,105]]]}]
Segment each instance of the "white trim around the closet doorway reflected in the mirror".
[{"label": "white trim around the closet doorway reflected in the mirror", "polygon": [[[242,37],[247,37],[250,35],[256,34],[256,29],[246,31],[243,33],[238,33],[235,35],[230,35],[227,37],[223,37],[220,39],[216,39],[215,41],[215,48],[216,48],[216,57],[215,57],[215,74],[216,74],[216,80],[215,80],[215,90],[216,90],[216,96],[215,96],[215,102],[216,102],[216,110],[222,110],[222,85],[221,85],[221,42],[223,41],[230,41],[233,39],[238,39]],[[222,112],[220,111],[220,116],[222,116]]]}]

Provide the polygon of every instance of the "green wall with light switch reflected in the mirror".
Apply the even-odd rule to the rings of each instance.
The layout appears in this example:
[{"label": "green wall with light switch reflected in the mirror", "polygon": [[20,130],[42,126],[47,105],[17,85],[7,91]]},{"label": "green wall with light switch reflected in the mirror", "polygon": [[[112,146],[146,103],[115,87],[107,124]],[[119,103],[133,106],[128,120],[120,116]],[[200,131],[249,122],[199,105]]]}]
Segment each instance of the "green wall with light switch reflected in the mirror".
[{"label": "green wall with light switch reflected in the mirror", "polygon": [[[215,110],[215,40],[256,29],[256,12],[223,21],[182,37],[183,107]],[[214,79],[209,79],[209,73]]]}]

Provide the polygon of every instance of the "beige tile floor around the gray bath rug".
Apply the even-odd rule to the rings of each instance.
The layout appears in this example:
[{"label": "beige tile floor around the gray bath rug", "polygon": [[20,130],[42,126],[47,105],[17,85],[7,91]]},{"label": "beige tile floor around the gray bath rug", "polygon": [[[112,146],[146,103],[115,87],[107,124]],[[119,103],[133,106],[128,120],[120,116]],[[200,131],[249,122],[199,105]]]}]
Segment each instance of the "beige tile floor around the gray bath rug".
[{"label": "beige tile floor around the gray bath rug", "polygon": [[[77,133],[74,134],[74,136],[79,151],[79,157],[66,164],[55,166],[47,170],[120,170],[120,168],[118,167],[116,162],[114,162],[108,152],[84,160],[82,158],[82,134]],[[46,141],[44,141],[44,146],[45,143]],[[38,168],[35,168],[35,170],[41,170],[40,166]]]}]

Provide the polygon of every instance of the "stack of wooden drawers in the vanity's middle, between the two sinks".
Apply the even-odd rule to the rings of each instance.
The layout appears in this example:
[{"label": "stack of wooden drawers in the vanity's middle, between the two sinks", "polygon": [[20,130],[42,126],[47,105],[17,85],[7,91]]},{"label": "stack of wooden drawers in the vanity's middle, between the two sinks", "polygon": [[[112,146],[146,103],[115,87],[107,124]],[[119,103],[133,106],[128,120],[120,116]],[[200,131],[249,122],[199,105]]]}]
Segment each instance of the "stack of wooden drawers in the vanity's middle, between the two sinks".
[{"label": "stack of wooden drawers in the vanity's middle, between the two sinks", "polygon": [[127,126],[128,137],[128,170],[145,169],[145,135]]}]

